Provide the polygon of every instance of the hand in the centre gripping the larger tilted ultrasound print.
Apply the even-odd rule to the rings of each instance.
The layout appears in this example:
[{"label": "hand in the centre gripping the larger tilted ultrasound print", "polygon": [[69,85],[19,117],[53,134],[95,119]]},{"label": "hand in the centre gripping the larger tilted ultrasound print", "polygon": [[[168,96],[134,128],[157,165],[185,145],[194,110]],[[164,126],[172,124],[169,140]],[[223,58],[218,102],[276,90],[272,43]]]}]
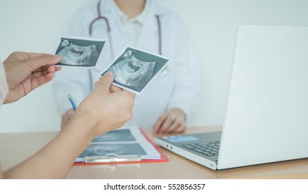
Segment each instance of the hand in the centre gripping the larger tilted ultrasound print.
[{"label": "hand in the centre gripping the larger tilted ultrasound print", "polygon": [[112,83],[113,74],[104,74],[104,77],[95,83],[94,90],[80,103],[71,119],[74,121],[79,117],[86,117],[87,124],[93,128],[93,137],[122,127],[133,116],[135,94],[113,88]]}]

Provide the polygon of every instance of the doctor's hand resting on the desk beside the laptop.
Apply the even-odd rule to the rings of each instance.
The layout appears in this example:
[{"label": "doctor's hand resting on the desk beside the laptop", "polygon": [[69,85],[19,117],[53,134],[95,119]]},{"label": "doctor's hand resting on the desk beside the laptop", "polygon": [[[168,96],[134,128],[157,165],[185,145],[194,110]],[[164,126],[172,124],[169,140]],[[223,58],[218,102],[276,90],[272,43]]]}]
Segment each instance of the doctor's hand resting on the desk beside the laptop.
[{"label": "doctor's hand resting on the desk beside the laptop", "polygon": [[153,134],[183,132],[186,129],[186,115],[179,108],[164,112],[153,126]]}]

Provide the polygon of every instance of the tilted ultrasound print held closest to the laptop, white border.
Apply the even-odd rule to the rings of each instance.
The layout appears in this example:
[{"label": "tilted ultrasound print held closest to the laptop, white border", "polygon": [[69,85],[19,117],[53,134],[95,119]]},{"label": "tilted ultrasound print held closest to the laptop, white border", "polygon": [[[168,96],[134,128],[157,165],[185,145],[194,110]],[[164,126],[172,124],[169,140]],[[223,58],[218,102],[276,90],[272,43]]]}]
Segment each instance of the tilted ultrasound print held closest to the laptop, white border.
[{"label": "tilted ultrasound print held closest to the laptop, white border", "polygon": [[141,94],[168,61],[169,59],[157,54],[127,47],[100,75],[103,76],[106,72],[112,72],[115,77],[113,81],[115,85]]}]

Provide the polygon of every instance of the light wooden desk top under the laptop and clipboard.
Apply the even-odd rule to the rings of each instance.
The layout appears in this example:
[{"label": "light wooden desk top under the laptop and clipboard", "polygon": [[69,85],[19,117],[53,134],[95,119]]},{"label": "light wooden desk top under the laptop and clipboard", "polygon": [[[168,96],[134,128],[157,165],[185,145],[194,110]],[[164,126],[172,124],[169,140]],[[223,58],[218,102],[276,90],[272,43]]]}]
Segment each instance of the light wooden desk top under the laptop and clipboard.
[{"label": "light wooden desk top under the laptop and clipboard", "polygon": [[[189,128],[186,133],[213,132],[220,127]],[[150,130],[144,130],[151,139]],[[17,165],[37,152],[56,132],[0,134],[2,170]],[[284,161],[213,171],[162,148],[164,163],[75,165],[68,179],[308,179],[308,159]],[[55,155],[57,156],[57,155]],[[50,163],[52,164],[52,163]]]}]

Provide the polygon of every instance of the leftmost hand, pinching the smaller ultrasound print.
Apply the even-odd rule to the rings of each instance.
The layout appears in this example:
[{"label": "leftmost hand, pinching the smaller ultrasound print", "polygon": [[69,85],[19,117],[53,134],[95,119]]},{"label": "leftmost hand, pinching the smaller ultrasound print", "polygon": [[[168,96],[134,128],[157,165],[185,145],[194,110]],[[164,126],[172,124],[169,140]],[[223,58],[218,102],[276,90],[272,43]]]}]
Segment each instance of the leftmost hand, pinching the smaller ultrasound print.
[{"label": "leftmost hand, pinching the smaller ultrasound print", "polygon": [[4,103],[12,103],[55,77],[59,55],[14,52],[3,62],[8,82],[8,96]]}]

